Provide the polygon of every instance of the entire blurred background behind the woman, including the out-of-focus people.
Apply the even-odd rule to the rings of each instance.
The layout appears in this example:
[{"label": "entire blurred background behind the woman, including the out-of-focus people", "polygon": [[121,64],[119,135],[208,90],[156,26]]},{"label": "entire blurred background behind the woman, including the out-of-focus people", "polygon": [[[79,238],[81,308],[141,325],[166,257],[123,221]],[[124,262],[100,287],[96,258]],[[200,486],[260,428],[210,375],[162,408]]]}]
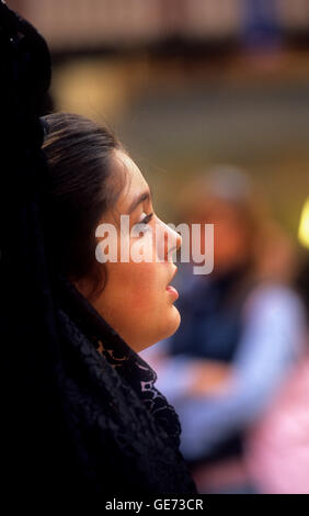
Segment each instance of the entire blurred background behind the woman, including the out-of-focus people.
[{"label": "entire blurred background behind the woman, including the out-of-focus people", "polygon": [[198,489],[309,493],[309,0],[8,4],[49,44],[45,110],[114,130],[165,222],[215,224],[146,354]]}]

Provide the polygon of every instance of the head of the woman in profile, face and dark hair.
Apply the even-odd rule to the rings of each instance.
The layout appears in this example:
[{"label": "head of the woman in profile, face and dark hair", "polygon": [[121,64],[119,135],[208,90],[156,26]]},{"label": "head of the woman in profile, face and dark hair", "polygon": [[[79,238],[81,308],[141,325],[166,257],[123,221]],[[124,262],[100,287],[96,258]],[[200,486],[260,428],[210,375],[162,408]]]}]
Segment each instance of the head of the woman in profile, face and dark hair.
[{"label": "head of the woman in profile, face and dark hair", "polygon": [[[172,253],[180,247],[181,236],[156,215],[142,173],[105,127],[68,113],[43,120],[48,127],[43,149],[49,166],[46,242],[50,258],[124,340],[140,351],[180,325],[173,305],[178,294],[169,283],[176,272]],[[128,217],[126,229],[122,215]],[[110,260],[106,254],[103,263],[98,260],[98,246],[107,237],[105,233],[95,236],[101,224],[115,228],[107,235],[115,256]],[[138,249],[134,254],[137,246],[140,259]]]}]

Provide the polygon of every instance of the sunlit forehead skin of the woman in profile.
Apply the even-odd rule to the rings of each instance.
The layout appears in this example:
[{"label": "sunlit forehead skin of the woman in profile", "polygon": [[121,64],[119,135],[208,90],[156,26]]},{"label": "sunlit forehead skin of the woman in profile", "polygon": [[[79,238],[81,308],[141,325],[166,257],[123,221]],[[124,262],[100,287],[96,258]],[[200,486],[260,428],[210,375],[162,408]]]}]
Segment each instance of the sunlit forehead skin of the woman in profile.
[{"label": "sunlit forehead skin of the woman in profile", "polygon": [[149,187],[141,171],[127,154],[117,149],[114,158],[117,171],[126,178],[126,187],[117,202],[118,210],[125,212],[136,195],[149,190]]}]

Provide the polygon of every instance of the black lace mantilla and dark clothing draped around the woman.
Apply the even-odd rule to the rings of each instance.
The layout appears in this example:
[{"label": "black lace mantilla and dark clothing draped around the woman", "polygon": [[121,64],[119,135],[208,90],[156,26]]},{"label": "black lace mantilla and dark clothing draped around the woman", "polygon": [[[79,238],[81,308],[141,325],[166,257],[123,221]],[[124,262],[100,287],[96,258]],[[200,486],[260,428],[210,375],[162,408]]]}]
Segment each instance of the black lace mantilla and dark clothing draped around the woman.
[{"label": "black lace mantilla and dark clothing draped around the woman", "polygon": [[[44,248],[44,38],[0,2],[2,501],[196,493],[156,373]],[[5,165],[4,165],[5,164]]]}]

